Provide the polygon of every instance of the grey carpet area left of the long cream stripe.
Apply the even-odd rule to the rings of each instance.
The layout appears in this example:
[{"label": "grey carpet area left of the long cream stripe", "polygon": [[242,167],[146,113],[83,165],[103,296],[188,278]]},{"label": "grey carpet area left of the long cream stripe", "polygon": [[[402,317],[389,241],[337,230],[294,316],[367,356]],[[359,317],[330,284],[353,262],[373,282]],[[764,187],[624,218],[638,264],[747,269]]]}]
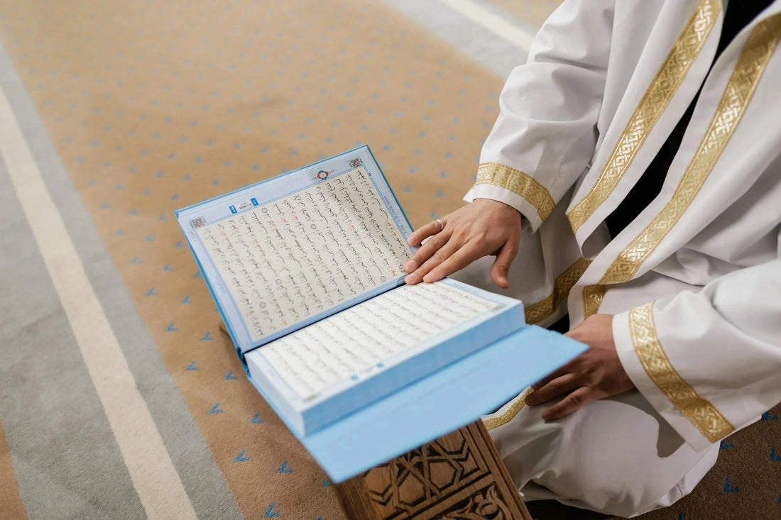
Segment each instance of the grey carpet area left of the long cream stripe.
[{"label": "grey carpet area left of the long cream stripe", "polygon": [[30,518],[144,518],[0,158],[0,417]]}]

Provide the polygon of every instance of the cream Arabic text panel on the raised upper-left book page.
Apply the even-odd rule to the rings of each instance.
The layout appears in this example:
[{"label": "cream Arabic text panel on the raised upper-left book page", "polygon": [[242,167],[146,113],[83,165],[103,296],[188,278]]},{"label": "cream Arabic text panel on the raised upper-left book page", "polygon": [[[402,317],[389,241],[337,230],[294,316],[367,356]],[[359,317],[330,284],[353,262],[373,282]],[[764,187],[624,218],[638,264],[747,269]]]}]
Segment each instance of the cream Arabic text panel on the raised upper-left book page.
[{"label": "cream Arabic text panel on the raised upper-left book page", "polygon": [[363,167],[197,231],[253,342],[402,276],[411,252]]}]

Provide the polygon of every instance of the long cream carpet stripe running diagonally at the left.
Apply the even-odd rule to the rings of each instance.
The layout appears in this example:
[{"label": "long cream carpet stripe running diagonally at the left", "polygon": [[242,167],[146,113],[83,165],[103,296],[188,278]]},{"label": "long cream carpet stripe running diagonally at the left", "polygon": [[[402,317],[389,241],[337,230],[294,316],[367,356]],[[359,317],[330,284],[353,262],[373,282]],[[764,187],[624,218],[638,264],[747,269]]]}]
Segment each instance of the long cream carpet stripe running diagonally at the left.
[{"label": "long cream carpet stripe running diagonally at the left", "polygon": [[2,87],[0,154],[148,518],[196,518]]}]

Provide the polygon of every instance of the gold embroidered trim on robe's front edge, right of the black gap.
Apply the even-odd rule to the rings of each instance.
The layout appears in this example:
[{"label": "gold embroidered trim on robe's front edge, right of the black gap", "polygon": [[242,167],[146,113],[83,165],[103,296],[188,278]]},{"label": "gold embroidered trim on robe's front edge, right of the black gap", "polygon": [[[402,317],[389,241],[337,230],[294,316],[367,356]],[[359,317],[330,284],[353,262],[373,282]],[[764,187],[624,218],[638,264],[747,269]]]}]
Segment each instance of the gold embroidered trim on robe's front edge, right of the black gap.
[{"label": "gold embroidered trim on robe's front edge, right of the black gap", "polygon": [[708,130],[705,131],[689,166],[686,166],[675,193],[651,223],[615,258],[600,283],[623,283],[632,280],[640,265],[672,230],[686,208],[689,208],[740,123],[776,48],[779,36],[781,15],[762,20],[751,31]]}]

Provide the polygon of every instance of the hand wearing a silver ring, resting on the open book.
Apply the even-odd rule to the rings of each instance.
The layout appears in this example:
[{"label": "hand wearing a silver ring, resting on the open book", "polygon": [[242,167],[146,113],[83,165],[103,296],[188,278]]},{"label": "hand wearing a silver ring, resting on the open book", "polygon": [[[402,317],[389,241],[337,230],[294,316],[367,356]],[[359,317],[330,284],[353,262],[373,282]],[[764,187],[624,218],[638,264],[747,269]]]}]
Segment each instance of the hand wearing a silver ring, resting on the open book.
[{"label": "hand wearing a silver ring, resting on the open book", "polygon": [[434,220],[409,236],[407,241],[411,246],[431,238],[404,265],[409,273],[404,279],[406,283],[436,282],[477,258],[495,255],[491,279],[499,287],[509,287],[510,264],[521,240],[518,210],[503,202],[478,198],[440,220],[444,223],[442,230]]}]

